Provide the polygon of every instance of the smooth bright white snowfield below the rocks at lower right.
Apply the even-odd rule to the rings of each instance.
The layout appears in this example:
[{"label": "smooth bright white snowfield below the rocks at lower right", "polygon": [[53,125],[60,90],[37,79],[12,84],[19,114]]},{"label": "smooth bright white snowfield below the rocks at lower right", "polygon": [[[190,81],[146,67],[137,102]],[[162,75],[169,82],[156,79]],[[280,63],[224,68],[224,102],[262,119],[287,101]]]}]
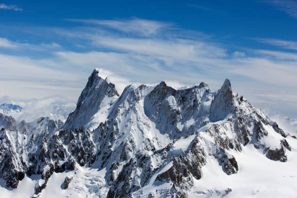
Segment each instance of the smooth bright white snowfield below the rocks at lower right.
[{"label": "smooth bright white snowfield below the rocks at lower right", "polygon": [[288,139],[292,152],[286,163],[271,161],[252,145],[242,152],[231,152],[239,166],[237,174],[226,175],[217,160],[210,156],[202,167],[203,176],[195,180],[189,198],[221,197],[216,191],[231,188],[225,198],[296,198],[297,140]]}]

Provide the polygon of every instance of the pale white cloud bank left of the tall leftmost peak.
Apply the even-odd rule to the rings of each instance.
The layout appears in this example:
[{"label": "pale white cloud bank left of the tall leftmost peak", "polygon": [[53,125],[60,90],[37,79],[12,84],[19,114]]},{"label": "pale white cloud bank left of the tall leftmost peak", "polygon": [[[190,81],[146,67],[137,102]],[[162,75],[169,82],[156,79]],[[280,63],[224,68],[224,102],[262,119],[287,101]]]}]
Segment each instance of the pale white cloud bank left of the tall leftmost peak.
[{"label": "pale white cloud bank left of the tall leftmost peak", "polygon": [[28,99],[63,96],[67,92],[67,97],[77,98],[85,83],[81,81],[82,73],[62,68],[58,60],[0,54],[0,93]]}]

